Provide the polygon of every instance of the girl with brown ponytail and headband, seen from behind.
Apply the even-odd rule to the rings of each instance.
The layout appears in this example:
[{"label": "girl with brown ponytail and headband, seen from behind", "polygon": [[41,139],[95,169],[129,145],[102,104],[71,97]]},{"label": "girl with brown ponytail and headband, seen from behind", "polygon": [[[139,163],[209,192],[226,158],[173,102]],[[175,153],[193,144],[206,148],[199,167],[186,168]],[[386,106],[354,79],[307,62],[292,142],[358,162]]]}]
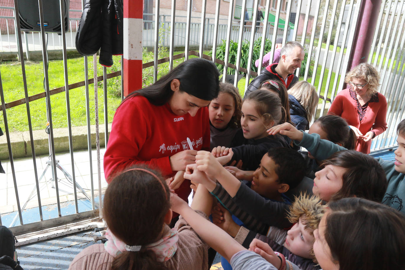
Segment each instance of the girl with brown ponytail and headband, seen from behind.
[{"label": "girl with brown ponytail and headband, seen from behind", "polygon": [[[167,225],[172,219],[170,194],[162,176],[149,168],[132,168],[116,176],[104,195],[107,242],[81,251],[69,269],[206,270],[207,244],[182,217],[173,229]],[[200,204],[199,194],[192,208],[207,219],[212,200]]]}]

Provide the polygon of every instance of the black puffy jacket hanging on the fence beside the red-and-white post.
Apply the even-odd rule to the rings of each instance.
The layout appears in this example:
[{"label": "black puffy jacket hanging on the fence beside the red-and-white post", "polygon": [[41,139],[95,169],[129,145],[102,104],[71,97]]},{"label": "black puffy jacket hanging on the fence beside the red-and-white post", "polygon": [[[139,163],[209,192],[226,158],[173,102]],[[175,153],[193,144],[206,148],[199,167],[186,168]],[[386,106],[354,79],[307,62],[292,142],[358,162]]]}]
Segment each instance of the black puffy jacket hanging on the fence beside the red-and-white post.
[{"label": "black puffy jacket hanging on the fence beside the red-and-white post", "polygon": [[76,49],[83,56],[100,49],[98,62],[113,65],[113,55],[122,55],[123,0],[86,0],[76,34]]}]

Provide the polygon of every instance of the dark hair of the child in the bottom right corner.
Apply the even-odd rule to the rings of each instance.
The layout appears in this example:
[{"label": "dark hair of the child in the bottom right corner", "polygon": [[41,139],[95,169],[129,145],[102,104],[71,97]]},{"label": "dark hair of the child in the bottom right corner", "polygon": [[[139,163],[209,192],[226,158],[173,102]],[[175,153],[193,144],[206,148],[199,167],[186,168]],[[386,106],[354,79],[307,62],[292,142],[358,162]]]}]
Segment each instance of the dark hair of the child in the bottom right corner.
[{"label": "dark hair of the child in the bottom right corner", "polygon": [[324,238],[339,269],[405,269],[402,213],[362,198],[345,198],[328,207]]}]

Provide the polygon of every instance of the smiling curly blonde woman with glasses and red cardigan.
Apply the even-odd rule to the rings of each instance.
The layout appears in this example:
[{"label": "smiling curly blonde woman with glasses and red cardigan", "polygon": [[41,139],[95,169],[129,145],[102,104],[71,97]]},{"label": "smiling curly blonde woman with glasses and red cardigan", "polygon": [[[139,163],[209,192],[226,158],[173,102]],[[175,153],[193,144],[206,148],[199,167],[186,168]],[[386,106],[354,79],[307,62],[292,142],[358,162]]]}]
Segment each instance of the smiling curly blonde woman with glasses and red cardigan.
[{"label": "smiling curly blonde woman with glasses and red cardigan", "polygon": [[387,100],[377,92],[379,73],[370,64],[362,63],[346,74],[345,83],[349,88],[336,95],[328,115],[346,119],[356,133],[356,150],[368,154],[371,139],[387,129]]}]

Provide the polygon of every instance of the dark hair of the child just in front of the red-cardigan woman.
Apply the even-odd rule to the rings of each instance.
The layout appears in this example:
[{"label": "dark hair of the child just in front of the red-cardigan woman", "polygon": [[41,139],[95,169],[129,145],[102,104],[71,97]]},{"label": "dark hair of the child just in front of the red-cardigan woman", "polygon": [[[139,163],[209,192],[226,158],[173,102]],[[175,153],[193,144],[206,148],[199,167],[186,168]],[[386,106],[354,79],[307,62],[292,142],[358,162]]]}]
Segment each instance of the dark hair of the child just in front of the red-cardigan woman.
[{"label": "dark hair of the child just in front of the red-cardigan woman", "polygon": [[315,120],[322,130],[328,134],[328,140],[333,143],[341,143],[346,149],[356,148],[356,134],[350,128],[349,124],[340,116],[324,115]]}]

